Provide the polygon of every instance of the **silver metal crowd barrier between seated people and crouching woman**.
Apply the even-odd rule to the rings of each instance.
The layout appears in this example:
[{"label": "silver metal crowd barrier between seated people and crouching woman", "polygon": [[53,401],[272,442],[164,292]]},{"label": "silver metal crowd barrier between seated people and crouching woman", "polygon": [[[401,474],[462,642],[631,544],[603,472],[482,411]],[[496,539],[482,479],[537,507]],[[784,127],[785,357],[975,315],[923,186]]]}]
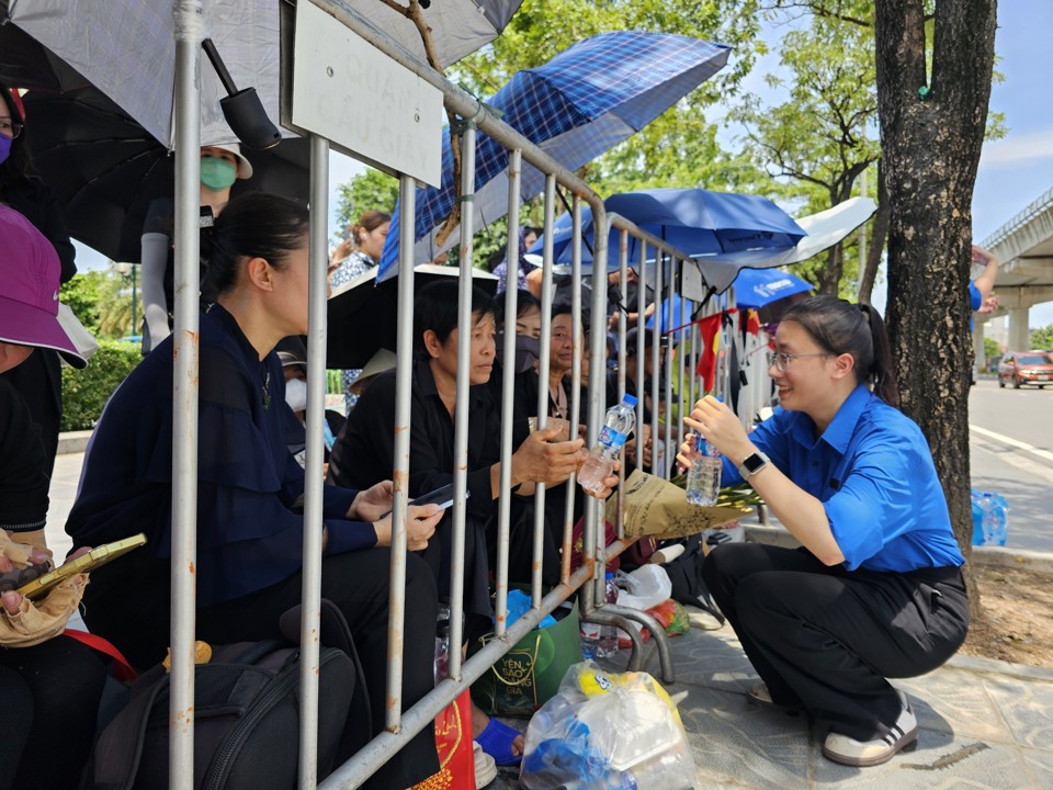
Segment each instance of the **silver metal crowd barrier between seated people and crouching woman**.
[{"label": "silver metal crowd barrier between seated people and crouching woman", "polygon": [[[541,149],[531,144],[516,131],[486,112],[483,104],[475,98],[444,80],[430,67],[417,61],[407,53],[394,45],[383,33],[376,31],[369,22],[359,16],[340,0],[312,0],[335,19],[342,22],[358,35],[362,36],[394,60],[416,72],[421,79],[437,87],[443,94],[448,108],[452,109],[465,120],[463,134],[462,159],[462,200],[469,201],[475,184],[475,142],[478,131],[484,132],[496,142],[510,150],[509,167],[509,260],[518,256],[519,230],[519,198],[518,185],[521,163],[529,162],[546,173],[545,181],[545,249],[543,268],[543,305],[542,305],[542,338],[539,376],[542,382],[537,414],[540,426],[547,421],[547,391],[545,384],[550,369],[550,337],[551,337],[551,307],[553,282],[553,246],[552,228],[555,221],[556,189],[561,187],[574,195],[573,216],[573,261],[571,286],[574,292],[571,320],[575,340],[581,337],[581,204],[587,203],[592,212],[593,239],[592,247],[593,271],[596,276],[602,278],[607,272],[608,238],[610,227],[619,233],[619,282],[622,291],[625,290],[627,279],[627,240],[636,238],[639,244],[639,279],[646,283],[648,269],[647,251],[656,255],[654,266],[656,276],[656,301],[660,303],[660,289],[664,276],[663,261],[669,261],[669,275],[666,276],[666,291],[670,296],[675,287],[677,267],[681,266],[686,257],[678,250],[624,221],[621,217],[608,217],[601,198],[589,185],[567,171],[558,162],[546,156]],[[194,636],[194,562],[196,545],[195,535],[195,505],[196,505],[196,406],[197,406],[197,359],[196,359],[196,294],[197,285],[197,234],[196,223],[196,192],[197,192],[197,94],[193,75],[200,60],[200,30],[195,29],[192,20],[185,24],[181,15],[193,15],[200,12],[200,0],[183,0],[177,4],[177,48],[180,54],[177,75],[177,369],[176,369],[176,419],[173,431],[180,440],[174,442],[177,448],[173,463],[173,537],[172,537],[172,696],[170,707],[171,737],[171,768],[170,787],[191,788],[193,786],[193,636]],[[184,20],[185,21],[185,20]],[[328,217],[328,155],[329,145],[324,138],[312,139],[312,227],[310,227],[310,280],[309,280],[309,331],[308,331],[308,405],[307,405],[307,447],[305,488],[305,519],[304,519],[304,568],[303,568],[303,625],[302,625],[302,708],[301,708],[301,788],[314,788],[317,785],[316,752],[317,752],[317,709],[318,709],[318,653],[320,625],[320,584],[321,584],[321,521],[322,521],[322,420],[324,397],[321,386],[325,382],[324,361],[326,354],[326,256],[327,256],[327,217]],[[592,595],[580,598],[581,617],[602,623],[613,623],[625,630],[633,640],[634,651],[631,658],[631,668],[638,668],[642,663],[641,641],[635,629],[630,627],[630,620],[647,627],[655,635],[661,666],[661,674],[667,681],[673,680],[672,663],[668,644],[663,629],[644,612],[625,610],[619,607],[604,606],[603,601],[603,568],[609,556],[622,552],[632,540],[626,540],[622,523],[622,509],[619,508],[618,540],[611,546],[604,546],[604,530],[599,529],[602,523],[602,504],[587,498],[584,507],[584,537],[582,565],[570,572],[569,556],[571,544],[571,514],[574,510],[575,481],[571,477],[568,489],[568,507],[563,529],[563,564],[561,582],[547,594],[543,592],[541,564],[542,540],[545,524],[543,521],[544,487],[537,487],[535,493],[535,523],[533,535],[533,574],[531,580],[531,597],[533,608],[511,627],[507,624],[507,592],[508,592],[508,549],[509,549],[509,509],[511,496],[511,470],[508,459],[512,452],[511,419],[502,420],[500,445],[500,496],[498,500],[498,533],[497,545],[497,580],[495,605],[495,639],[488,642],[478,653],[462,663],[458,650],[451,651],[449,676],[438,687],[418,701],[411,708],[403,711],[403,631],[405,625],[405,579],[406,579],[406,516],[407,516],[407,482],[409,472],[409,429],[410,429],[410,372],[411,372],[411,328],[412,328],[412,298],[414,298],[414,202],[415,184],[409,177],[403,177],[399,183],[399,199],[401,201],[400,225],[398,228],[400,260],[398,284],[398,321],[400,331],[397,340],[396,369],[396,427],[395,427],[395,469],[393,471],[395,503],[394,526],[392,538],[390,565],[390,607],[388,619],[388,676],[386,693],[385,731],[363,747],[352,759],[339,767],[326,781],[322,788],[353,788],[360,786],[385,761],[395,755],[416,733],[423,727],[431,726],[439,711],[453,701],[457,695],[472,681],[487,672],[495,662],[509,650],[520,637],[532,630],[539,621],[552,612],[561,602],[566,600],[577,589],[584,587],[588,580],[595,579]],[[472,289],[472,237],[475,232],[472,223],[472,213],[464,212],[461,221],[461,257],[460,257],[460,326],[471,325],[471,289]],[[517,293],[509,289],[505,296],[505,312],[507,318],[514,319],[517,314]],[[607,373],[607,289],[592,289],[591,300],[591,332],[589,345],[589,380],[593,386],[589,387],[588,403],[581,404],[577,384],[581,380],[580,354],[576,354],[571,379],[575,386],[571,388],[570,424],[577,425],[585,415],[587,445],[596,443],[597,436],[605,410],[604,382]],[[679,314],[678,314],[679,315]],[[652,356],[653,370],[659,370],[659,335],[663,316],[655,317],[656,331],[653,334],[653,343],[648,349]],[[669,316],[672,320],[672,316]],[[646,317],[643,311],[637,318],[641,343],[645,338],[644,327]],[[619,395],[625,392],[625,316],[622,314],[618,321],[619,334]],[[684,329],[678,329],[683,346]],[[458,332],[457,346],[457,399],[467,403],[468,376],[466,373],[469,353],[469,332]],[[697,360],[698,349],[692,342],[692,359]],[[637,382],[643,387],[644,349],[637,348]],[[514,358],[514,332],[505,335],[506,360]],[[679,393],[683,396],[682,357],[678,358],[680,382]],[[672,354],[667,353],[665,359],[666,386],[664,403],[666,415],[672,415],[671,384],[672,384]],[[693,371],[693,366],[692,366]],[[511,365],[506,365],[502,379],[501,404],[502,414],[510,415],[512,410],[512,380]],[[694,397],[694,376],[689,377],[691,398]],[[643,425],[644,393],[641,392],[641,403],[637,406],[637,422]],[[659,437],[658,424],[658,376],[653,376],[650,398],[654,405],[652,410],[652,435],[655,441]],[[584,411],[582,411],[584,407]],[[679,421],[679,420],[678,420]],[[682,439],[682,424],[678,427],[678,438]],[[467,409],[461,408],[455,415],[455,471],[454,471],[454,510],[453,510],[453,561],[451,568],[451,633],[452,645],[462,644],[462,612],[463,612],[463,579],[464,579],[464,541],[465,541],[465,495],[467,481]],[[666,420],[665,443],[671,447],[672,426]],[[668,477],[671,459],[669,453],[663,454],[664,476]],[[656,459],[657,461],[657,459]],[[623,477],[624,479],[624,477]],[[598,566],[598,567],[597,567]],[[375,691],[375,689],[374,689]]]}]

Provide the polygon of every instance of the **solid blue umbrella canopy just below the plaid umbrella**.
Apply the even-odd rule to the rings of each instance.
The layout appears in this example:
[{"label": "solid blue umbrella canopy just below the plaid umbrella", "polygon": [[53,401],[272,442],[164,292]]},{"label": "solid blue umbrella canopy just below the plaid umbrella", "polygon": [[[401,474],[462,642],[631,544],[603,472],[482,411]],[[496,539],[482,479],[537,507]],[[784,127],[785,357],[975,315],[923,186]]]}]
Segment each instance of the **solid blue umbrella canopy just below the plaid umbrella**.
[{"label": "solid blue umbrella canopy just below the plaid umbrella", "polygon": [[[668,241],[692,258],[745,252],[748,250],[790,249],[807,234],[767,198],[702,189],[654,189],[611,195],[603,205],[608,214],[619,214],[637,227]],[[553,250],[559,263],[570,262],[571,219],[563,214],[553,233]],[[582,211],[581,234],[592,233],[592,213]],[[619,232],[611,230],[611,250],[618,249]],[[531,251],[543,249],[539,239]],[[630,238],[631,262],[638,260],[636,241]],[[582,261],[591,255],[582,249]],[[618,256],[609,255],[614,268]]]}]

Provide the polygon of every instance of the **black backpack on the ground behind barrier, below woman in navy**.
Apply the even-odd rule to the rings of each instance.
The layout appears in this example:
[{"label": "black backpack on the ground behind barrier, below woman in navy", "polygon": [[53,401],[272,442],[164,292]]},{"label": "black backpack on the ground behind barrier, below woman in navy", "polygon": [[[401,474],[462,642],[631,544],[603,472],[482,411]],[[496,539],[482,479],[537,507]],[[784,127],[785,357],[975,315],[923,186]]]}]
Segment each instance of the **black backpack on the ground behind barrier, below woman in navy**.
[{"label": "black backpack on the ground behind barrier, below woman in navy", "polygon": [[[293,790],[299,756],[299,607],[282,617],[286,640],[215,647],[194,674],[194,788]],[[370,738],[370,707],[347,622],[322,601],[318,689],[318,778]],[[325,646],[328,645],[328,646]],[[162,665],[132,685],[131,698],[95,745],[88,787],[169,786],[169,675]],[[352,710],[354,711],[352,713]]]}]

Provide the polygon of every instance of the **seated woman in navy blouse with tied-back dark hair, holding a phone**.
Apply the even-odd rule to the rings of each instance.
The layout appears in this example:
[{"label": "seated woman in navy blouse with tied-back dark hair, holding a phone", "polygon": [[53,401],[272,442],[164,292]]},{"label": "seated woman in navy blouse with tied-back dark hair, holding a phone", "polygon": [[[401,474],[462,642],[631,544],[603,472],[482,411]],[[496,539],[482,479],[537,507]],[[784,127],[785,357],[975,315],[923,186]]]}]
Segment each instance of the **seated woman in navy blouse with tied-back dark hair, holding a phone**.
[{"label": "seated woman in navy blouse with tied-back dark hair, holding a phone", "polygon": [[[210,275],[217,302],[201,316],[197,451],[199,639],[280,636],[301,601],[304,470],[285,443],[285,377],[274,347],[307,331],[308,216],[262,193],[236,198],[216,221]],[[66,531],[95,545],[146,532],[148,546],[92,573],[84,620],[136,667],[165,657],[172,508],[172,339],[117,388],[95,427]],[[372,734],[385,720],[392,483],[327,486],[321,595],[343,612],[370,689]],[[411,506],[410,550],[428,544],[442,511]],[[434,687],[434,580],[407,556],[403,701]],[[424,727],[372,779],[404,788],[439,770]]]}]

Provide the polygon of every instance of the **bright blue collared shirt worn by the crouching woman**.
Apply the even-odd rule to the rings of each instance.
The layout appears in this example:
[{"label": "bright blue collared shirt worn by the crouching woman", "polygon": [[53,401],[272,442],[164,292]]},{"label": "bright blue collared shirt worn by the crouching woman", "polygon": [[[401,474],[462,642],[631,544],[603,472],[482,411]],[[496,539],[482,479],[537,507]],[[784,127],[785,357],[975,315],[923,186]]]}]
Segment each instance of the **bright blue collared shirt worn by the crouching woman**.
[{"label": "bright blue collared shirt worn by the crouching woman", "polygon": [[[775,409],[750,441],[823,503],[849,571],[962,565],[943,488],[921,429],[865,386],[816,438],[803,411]],[[724,485],[741,482],[724,459]]]}]

